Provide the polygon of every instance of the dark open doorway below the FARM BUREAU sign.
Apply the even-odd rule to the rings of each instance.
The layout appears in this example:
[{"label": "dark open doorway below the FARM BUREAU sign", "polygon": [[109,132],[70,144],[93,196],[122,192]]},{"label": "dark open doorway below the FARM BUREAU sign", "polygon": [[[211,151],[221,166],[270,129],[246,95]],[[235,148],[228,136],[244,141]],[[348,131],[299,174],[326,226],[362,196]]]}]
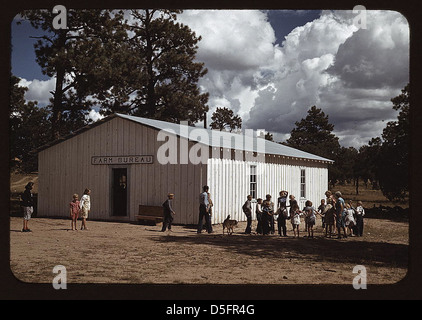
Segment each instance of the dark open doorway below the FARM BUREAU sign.
[{"label": "dark open doorway below the FARM BUREAU sign", "polygon": [[127,216],[127,168],[112,168],[112,215]]}]

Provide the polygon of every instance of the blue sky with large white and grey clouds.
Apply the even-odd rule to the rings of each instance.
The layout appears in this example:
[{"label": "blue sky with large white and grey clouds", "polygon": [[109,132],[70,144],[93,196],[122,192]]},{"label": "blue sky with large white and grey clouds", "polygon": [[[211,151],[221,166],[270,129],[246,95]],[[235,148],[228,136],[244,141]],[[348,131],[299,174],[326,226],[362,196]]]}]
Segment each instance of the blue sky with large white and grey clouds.
[{"label": "blue sky with large white and grey clouds", "polygon": [[[197,60],[208,73],[208,120],[217,107],[241,116],[243,128],[285,141],[313,105],[329,115],[343,146],[380,136],[397,112],[390,99],[409,81],[409,26],[394,11],[186,10],[178,20],[202,40]],[[54,78],[41,74],[27,23],[12,25],[12,72],[26,98],[45,105]],[[95,111],[94,119],[98,118]],[[210,121],[208,121],[209,123]]]}]

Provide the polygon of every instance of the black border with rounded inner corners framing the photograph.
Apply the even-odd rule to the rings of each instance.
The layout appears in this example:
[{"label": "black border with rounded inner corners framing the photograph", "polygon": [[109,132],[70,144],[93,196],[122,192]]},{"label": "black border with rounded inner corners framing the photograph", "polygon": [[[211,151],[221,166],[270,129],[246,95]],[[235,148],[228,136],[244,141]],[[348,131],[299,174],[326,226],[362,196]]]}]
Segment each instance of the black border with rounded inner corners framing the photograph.
[{"label": "black border with rounded inner corners framing the photograph", "polygon": [[[409,268],[407,276],[400,282],[393,285],[370,285],[367,290],[354,290],[352,285],[78,285],[72,284],[66,290],[54,290],[51,284],[24,283],[14,277],[9,265],[10,249],[10,220],[9,220],[9,77],[11,70],[10,57],[10,32],[13,17],[23,9],[48,8],[61,4],[66,8],[181,8],[181,9],[332,9],[351,10],[355,5],[362,4],[368,10],[394,10],[403,14],[410,26],[410,84],[411,84],[411,150],[410,150],[410,221],[409,221]],[[3,300],[147,300],[136,309],[150,309],[158,306],[159,316],[165,316],[164,308],[172,306],[173,303],[180,305],[209,305],[214,304],[255,304],[256,315],[263,311],[268,304],[274,305],[277,301],[270,300],[337,300],[337,299],[358,299],[358,300],[414,300],[421,299],[421,255],[422,255],[422,233],[421,215],[415,195],[419,190],[421,169],[418,166],[421,162],[421,148],[419,143],[421,116],[421,24],[420,9],[421,3],[414,0],[408,2],[391,2],[381,0],[369,0],[365,3],[356,1],[208,1],[198,2],[193,0],[172,1],[172,0],[104,0],[104,1],[82,1],[82,0],[37,0],[34,2],[18,3],[9,1],[2,5],[1,10],[1,108],[3,115],[0,117],[0,139],[1,152],[1,178],[0,185],[3,192],[0,193],[0,299]],[[392,230],[394,232],[394,230]],[[289,302],[283,303],[289,307]],[[305,309],[306,307],[302,305]],[[145,310],[145,309],[144,309]],[[72,311],[71,309],[69,311]],[[300,311],[300,310],[299,310]],[[315,312],[318,310],[314,309]],[[19,312],[19,311],[15,311]],[[348,312],[344,306],[343,312]],[[158,314],[153,311],[155,316]],[[318,312],[319,313],[319,312]],[[324,314],[324,311],[322,311]],[[276,316],[277,314],[274,314]],[[328,312],[331,315],[331,312]],[[154,315],[153,315],[154,316]],[[214,318],[214,317],[213,317]]]}]

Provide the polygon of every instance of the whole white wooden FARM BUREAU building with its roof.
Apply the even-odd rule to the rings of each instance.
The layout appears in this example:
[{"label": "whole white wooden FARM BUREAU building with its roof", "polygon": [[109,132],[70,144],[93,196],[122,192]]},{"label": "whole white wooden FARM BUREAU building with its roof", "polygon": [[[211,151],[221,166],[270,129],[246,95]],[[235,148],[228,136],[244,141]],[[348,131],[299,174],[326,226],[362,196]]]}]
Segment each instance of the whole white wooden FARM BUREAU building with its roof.
[{"label": "whole white wooden FARM BUREAU building with its roof", "polygon": [[139,205],[161,206],[171,192],[174,223],[196,224],[208,185],[212,223],[243,221],[248,194],[276,202],[287,190],[318,206],[331,162],[246,134],[114,114],[39,150],[38,216],[67,217],[72,195],[89,188],[89,219],[134,221]]}]

